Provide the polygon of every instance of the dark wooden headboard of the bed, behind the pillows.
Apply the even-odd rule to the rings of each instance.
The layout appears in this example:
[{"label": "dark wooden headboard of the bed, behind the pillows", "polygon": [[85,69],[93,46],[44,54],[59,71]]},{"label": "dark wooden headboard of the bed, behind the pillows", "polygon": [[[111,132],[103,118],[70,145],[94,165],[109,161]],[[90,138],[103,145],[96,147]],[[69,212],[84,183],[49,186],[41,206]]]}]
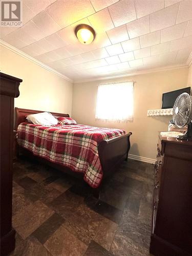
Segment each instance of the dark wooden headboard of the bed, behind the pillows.
[{"label": "dark wooden headboard of the bed, behind the pillows", "polygon": [[[26,110],[26,109],[19,109],[15,108],[15,131],[17,131],[17,127],[20,123],[26,122],[26,117],[30,114],[37,114],[45,111],[39,110]],[[54,113],[50,112],[54,117],[69,117],[69,114],[61,114],[61,113]]]}]

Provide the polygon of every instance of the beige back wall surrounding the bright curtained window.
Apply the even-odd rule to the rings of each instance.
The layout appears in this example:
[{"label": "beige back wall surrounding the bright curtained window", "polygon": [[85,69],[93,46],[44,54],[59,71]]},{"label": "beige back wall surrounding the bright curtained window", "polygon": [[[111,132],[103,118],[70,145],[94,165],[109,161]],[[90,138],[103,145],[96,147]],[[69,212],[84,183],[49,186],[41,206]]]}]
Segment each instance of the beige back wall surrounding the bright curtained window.
[{"label": "beige back wall surrounding the bright curtained window", "polygon": [[[103,81],[75,83],[72,115],[78,123],[117,127],[133,132],[130,154],[155,159],[158,131],[167,131],[171,117],[147,117],[147,110],[161,109],[162,93],[187,85],[188,68],[136,75]],[[104,122],[95,119],[97,85],[103,82],[134,80],[134,121]]]}]

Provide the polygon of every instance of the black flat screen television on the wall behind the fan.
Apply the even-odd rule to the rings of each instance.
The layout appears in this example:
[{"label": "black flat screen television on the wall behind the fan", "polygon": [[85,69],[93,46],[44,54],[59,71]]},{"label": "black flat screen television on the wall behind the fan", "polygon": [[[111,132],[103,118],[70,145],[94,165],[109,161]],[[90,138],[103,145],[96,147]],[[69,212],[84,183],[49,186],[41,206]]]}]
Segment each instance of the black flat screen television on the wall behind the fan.
[{"label": "black flat screen television on the wall behind the fan", "polygon": [[182,93],[190,94],[190,87],[182,88],[176,91],[163,93],[162,95],[162,109],[173,108],[177,97]]}]

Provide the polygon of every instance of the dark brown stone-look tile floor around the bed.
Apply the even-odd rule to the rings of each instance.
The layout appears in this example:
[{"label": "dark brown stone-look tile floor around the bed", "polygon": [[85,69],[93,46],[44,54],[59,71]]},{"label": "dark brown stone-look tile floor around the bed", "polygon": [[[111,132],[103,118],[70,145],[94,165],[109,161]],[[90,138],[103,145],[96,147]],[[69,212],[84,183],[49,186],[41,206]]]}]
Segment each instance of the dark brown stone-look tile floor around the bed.
[{"label": "dark brown stone-look tile floor around the bed", "polygon": [[83,182],[19,159],[11,256],[150,255],[152,197],[152,164],[123,162],[96,199]]}]

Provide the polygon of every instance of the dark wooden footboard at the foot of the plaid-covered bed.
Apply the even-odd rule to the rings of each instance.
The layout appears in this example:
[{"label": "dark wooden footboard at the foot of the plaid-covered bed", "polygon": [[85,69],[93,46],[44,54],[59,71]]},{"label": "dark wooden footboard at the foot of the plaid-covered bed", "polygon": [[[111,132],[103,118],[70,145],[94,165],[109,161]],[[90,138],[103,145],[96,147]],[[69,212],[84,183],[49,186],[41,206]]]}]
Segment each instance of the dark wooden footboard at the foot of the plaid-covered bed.
[{"label": "dark wooden footboard at the foot of the plaid-covered bed", "polygon": [[98,145],[98,153],[103,170],[103,178],[107,177],[123,160],[127,159],[130,150],[132,133],[103,140]]}]

